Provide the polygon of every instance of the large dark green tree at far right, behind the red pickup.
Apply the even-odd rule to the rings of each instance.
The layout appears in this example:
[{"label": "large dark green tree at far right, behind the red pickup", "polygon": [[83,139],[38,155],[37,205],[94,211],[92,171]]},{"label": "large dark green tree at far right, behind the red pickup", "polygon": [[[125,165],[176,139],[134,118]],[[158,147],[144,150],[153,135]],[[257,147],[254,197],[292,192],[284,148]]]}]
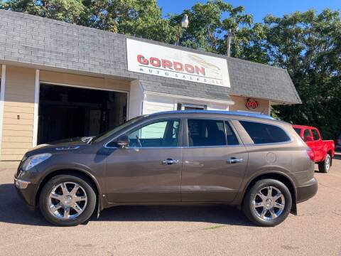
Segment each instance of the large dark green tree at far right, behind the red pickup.
[{"label": "large dark green tree at far right, behind the red pickup", "polygon": [[[265,33],[256,52],[266,53],[269,64],[286,68],[302,105],[274,107],[278,116],[296,124],[321,129],[334,138],[341,127],[341,21],[340,12],[325,9],[266,16]],[[249,55],[249,54],[248,54]]]}]

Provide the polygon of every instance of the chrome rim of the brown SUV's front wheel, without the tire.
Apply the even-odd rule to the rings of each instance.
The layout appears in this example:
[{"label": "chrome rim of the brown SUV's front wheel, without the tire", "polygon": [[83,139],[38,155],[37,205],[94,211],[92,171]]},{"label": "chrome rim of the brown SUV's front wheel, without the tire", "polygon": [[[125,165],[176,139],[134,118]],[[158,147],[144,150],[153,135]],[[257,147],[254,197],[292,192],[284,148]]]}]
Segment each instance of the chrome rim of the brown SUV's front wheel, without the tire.
[{"label": "chrome rim of the brown SUV's front wheel, without the tire", "polygon": [[87,193],[80,184],[63,182],[53,188],[48,196],[48,209],[53,216],[70,220],[87,207]]}]

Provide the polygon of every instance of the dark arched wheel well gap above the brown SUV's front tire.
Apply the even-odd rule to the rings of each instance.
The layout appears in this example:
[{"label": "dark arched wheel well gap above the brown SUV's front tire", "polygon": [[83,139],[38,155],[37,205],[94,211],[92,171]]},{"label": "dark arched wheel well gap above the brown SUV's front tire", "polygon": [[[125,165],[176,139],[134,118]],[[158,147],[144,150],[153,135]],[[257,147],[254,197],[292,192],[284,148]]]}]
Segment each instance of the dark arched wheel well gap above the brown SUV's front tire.
[{"label": "dark arched wheel well gap above the brown SUV's front tire", "polygon": [[47,183],[54,176],[62,175],[62,174],[68,174],[68,175],[74,175],[74,176],[76,175],[80,178],[84,178],[94,188],[94,193],[96,193],[96,196],[97,196],[97,203],[99,203],[100,198],[99,198],[99,190],[97,188],[97,184],[94,182],[93,178],[89,174],[86,174],[83,171],[74,170],[74,169],[63,169],[63,170],[57,170],[57,171],[51,172],[45,178],[43,178],[43,181],[40,182],[38,191],[36,193],[36,206],[38,206],[40,191],[43,188],[43,186],[45,185],[45,183]]}]

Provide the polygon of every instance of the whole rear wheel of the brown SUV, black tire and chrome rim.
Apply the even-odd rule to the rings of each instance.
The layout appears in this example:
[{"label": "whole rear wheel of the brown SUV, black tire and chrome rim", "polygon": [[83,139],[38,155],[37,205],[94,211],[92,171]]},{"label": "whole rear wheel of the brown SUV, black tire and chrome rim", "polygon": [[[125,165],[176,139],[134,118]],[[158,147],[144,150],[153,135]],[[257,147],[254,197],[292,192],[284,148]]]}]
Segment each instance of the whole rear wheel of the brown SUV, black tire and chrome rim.
[{"label": "whole rear wheel of the brown SUV, black tire and chrome rim", "polygon": [[[272,191],[271,198],[268,194],[270,191],[269,188],[271,188]],[[278,197],[280,195],[278,192],[281,192],[280,197]],[[260,193],[262,194],[262,197],[259,196]],[[271,201],[269,199],[271,199]],[[277,203],[276,206],[274,206],[274,203]],[[256,183],[248,189],[244,196],[242,210],[247,218],[256,225],[274,227],[282,223],[286,217],[288,217],[292,203],[291,193],[286,185],[275,179],[262,179],[256,181]],[[263,205],[263,207],[261,205]],[[271,214],[271,208],[275,215]],[[262,215],[264,212],[265,214]]]}]

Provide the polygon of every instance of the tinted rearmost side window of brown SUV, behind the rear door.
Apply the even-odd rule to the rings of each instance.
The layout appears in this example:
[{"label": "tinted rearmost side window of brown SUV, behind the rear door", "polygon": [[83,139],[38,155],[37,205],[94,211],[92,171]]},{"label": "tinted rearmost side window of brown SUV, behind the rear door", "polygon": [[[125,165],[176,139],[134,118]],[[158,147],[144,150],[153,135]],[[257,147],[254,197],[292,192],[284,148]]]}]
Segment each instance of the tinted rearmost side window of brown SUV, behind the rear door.
[{"label": "tinted rearmost side window of brown SUV, behind the rear door", "polygon": [[259,122],[239,121],[254,144],[288,142],[290,138],[280,127]]}]

